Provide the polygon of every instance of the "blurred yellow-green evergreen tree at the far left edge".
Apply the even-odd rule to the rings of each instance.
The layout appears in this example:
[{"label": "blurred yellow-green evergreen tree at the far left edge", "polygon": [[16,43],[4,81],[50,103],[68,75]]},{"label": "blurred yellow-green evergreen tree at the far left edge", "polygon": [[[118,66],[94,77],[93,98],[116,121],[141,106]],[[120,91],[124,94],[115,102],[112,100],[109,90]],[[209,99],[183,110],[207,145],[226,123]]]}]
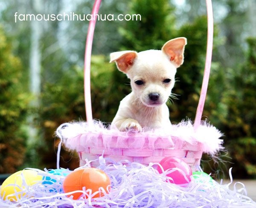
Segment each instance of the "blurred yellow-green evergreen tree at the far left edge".
[{"label": "blurred yellow-green evergreen tree at the far left edge", "polygon": [[20,83],[21,72],[20,60],[0,28],[0,173],[17,171],[26,151],[23,124],[29,100]]}]

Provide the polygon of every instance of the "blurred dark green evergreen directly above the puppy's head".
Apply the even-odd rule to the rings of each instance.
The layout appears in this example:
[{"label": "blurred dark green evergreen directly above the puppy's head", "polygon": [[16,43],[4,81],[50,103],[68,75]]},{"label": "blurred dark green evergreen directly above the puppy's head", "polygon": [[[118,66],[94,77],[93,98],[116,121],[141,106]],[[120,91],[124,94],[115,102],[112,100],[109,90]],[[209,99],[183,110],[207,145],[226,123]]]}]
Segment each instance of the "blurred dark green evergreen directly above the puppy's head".
[{"label": "blurred dark green evergreen directly above the puppy's head", "polygon": [[167,40],[177,37],[173,11],[167,0],[132,0],[128,13],[140,14],[141,21],[128,21],[119,28],[123,37],[121,49],[160,49]]}]

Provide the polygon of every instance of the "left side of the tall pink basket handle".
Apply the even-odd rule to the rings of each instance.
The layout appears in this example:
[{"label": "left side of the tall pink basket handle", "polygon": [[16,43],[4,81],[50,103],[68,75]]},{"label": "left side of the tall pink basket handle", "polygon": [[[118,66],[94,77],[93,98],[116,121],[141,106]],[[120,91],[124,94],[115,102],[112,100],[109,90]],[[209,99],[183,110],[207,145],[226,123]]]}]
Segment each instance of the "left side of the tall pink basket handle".
[{"label": "left side of the tall pink basket handle", "polygon": [[93,5],[92,20],[90,20],[88,27],[84,54],[84,103],[86,111],[86,120],[89,126],[93,125],[92,101],[90,93],[90,61],[92,54],[94,28],[97,20],[95,17],[96,14],[98,14],[100,3],[101,0],[95,0]]}]

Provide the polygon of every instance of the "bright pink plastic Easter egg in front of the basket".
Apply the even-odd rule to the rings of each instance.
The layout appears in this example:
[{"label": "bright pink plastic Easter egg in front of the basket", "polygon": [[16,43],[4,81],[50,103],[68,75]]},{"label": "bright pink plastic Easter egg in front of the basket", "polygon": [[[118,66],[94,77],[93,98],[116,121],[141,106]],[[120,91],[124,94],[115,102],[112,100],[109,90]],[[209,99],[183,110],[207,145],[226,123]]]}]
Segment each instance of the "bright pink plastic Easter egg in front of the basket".
[{"label": "bright pink plastic Easter egg in front of the basket", "polygon": [[[172,168],[180,169],[174,170],[173,172],[167,174],[168,177],[172,178],[172,180],[169,180],[169,182],[180,186],[186,186],[191,181],[192,170],[184,160],[178,157],[166,157],[159,163],[163,167],[164,171]],[[163,173],[160,166],[157,166],[157,171],[160,174]]]}]

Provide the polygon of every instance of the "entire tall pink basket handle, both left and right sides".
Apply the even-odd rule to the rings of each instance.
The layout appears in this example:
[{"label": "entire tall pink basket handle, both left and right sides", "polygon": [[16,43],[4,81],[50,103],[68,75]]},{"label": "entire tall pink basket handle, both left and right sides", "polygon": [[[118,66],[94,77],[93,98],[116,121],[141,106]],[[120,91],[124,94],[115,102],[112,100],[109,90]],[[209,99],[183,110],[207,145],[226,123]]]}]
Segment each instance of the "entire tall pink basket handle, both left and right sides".
[{"label": "entire tall pink basket handle, both left and right sides", "polygon": [[[95,0],[93,5],[92,15],[95,17],[98,14],[99,6],[101,0]],[[201,123],[201,117],[204,110],[204,103],[207,94],[207,86],[209,82],[209,74],[211,69],[212,61],[212,44],[213,44],[213,14],[212,14],[212,1],[206,0],[207,6],[207,52],[206,60],[204,67],[204,78],[201,88],[201,94],[199,98],[199,103],[195,115],[194,129],[196,130]],[[91,94],[90,94],[90,60],[91,60],[91,51],[93,44],[93,34],[96,24],[96,19],[92,18],[89,23],[85,54],[84,54],[84,101],[85,101],[85,110],[86,110],[86,120],[89,126],[93,125],[93,114],[92,114],[92,104],[91,104]]]}]

